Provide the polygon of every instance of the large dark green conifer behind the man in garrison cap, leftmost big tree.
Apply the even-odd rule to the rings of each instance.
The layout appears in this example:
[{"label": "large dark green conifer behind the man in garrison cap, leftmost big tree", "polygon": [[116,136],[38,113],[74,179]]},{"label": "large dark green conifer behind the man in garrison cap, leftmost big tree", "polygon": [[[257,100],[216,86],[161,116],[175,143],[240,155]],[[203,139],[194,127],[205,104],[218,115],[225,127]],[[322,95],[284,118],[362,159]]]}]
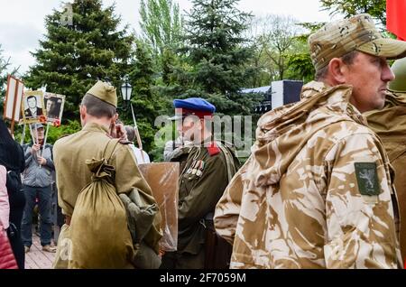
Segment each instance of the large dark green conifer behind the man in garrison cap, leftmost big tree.
[{"label": "large dark green conifer behind the man in garrison cap, leftmost big tree", "polygon": [[101,0],[75,0],[71,23],[65,23],[69,11],[63,10],[45,19],[46,38],[32,52],[37,62],[24,83],[66,95],[65,119],[77,115],[81,97],[97,79],[108,78],[119,87],[128,71],[134,37],[127,27],[118,29],[121,20],[114,10],[114,5],[103,9]]}]

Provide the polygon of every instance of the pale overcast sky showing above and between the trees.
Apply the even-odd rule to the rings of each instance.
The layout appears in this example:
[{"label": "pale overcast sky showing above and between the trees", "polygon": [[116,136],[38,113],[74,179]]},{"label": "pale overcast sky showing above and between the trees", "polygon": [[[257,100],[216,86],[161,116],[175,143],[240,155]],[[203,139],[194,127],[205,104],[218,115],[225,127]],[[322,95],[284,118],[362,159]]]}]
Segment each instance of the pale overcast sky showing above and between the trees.
[{"label": "pale overcast sky showing above and between the trees", "polygon": [[[176,2],[177,0],[173,0]],[[25,72],[34,64],[30,51],[39,48],[38,41],[46,32],[45,15],[52,9],[60,9],[60,0],[13,0],[2,1],[0,17],[0,44],[5,58],[11,57],[13,67],[20,66],[19,72]],[[104,5],[115,3],[115,14],[122,16],[123,24],[139,31],[138,21],[140,0],[103,0]],[[191,1],[178,0],[180,9],[189,11]],[[300,22],[328,22],[327,12],[320,11],[318,0],[241,0],[239,8],[254,15],[284,14],[292,15]]]}]

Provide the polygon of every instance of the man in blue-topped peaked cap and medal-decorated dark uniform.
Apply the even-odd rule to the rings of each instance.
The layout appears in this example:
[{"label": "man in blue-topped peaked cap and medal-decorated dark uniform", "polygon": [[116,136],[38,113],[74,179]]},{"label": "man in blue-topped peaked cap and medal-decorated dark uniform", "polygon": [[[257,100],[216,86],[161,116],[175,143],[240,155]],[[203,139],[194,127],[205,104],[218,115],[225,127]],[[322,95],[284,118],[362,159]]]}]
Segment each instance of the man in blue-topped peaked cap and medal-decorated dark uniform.
[{"label": "man in blue-topped peaked cap and medal-decorated dark uniform", "polygon": [[[209,258],[208,252],[213,255],[209,249],[214,246],[207,245],[207,237],[210,230],[214,231],[214,209],[238,168],[238,160],[230,147],[212,140],[207,121],[215,106],[201,98],[174,100],[174,106],[182,119],[182,135],[193,146],[180,153],[180,158],[187,159],[181,159],[184,164],[180,174],[178,250],[162,257],[161,268],[213,267],[215,262],[208,260],[214,257]],[[172,159],[176,160],[177,157]]]}]

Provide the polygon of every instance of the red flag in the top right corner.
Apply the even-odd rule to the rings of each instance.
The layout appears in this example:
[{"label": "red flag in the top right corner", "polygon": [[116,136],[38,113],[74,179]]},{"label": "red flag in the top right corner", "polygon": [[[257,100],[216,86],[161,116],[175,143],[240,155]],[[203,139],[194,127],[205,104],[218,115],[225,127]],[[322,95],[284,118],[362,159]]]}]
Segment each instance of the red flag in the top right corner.
[{"label": "red flag in the top right corner", "polygon": [[386,28],[406,41],[406,0],[386,1]]}]

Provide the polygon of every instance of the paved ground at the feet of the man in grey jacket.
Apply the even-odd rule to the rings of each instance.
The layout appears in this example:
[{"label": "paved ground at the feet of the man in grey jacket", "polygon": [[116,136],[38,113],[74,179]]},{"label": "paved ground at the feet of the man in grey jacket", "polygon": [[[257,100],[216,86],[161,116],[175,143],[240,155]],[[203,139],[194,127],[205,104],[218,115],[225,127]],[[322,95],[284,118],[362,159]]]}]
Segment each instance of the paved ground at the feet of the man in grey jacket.
[{"label": "paved ground at the feet of the man in grey jacket", "polygon": [[40,238],[32,232],[32,246],[25,254],[25,269],[51,269],[54,253],[43,252]]}]

